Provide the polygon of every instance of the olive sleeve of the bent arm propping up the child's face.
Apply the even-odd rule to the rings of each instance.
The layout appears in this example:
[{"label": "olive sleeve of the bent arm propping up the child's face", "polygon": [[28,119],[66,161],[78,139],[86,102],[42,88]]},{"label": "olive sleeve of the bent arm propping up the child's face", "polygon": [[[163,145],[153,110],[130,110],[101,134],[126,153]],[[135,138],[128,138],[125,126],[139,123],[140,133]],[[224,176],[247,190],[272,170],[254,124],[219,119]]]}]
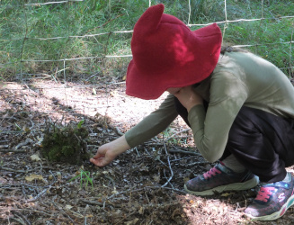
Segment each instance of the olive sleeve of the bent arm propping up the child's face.
[{"label": "olive sleeve of the bent arm propping up the child's face", "polygon": [[209,162],[223,155],[229,130],[246,98],[246,86],[240,78],[219,73],[211,78],[207,112],[203,105],[195,105],[190,110],[188,120],[195,144]]}]

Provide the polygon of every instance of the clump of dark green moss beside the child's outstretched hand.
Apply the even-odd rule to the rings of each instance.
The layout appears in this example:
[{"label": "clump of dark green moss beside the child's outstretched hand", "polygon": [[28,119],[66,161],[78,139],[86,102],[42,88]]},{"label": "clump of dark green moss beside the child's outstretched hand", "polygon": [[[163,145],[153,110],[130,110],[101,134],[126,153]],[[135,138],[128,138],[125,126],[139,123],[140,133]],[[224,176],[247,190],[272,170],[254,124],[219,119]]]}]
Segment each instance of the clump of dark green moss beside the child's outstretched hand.
[{"label": "clump of dark green moss beside the child's outstretched hand", "polygon": [[42,141],[41,155],[49,161],[81,165],[90,157],[85,141],[87,137],[88,131],[81,123],[74,128],[72,125],[59,128],[56,124],[49,124]]}]

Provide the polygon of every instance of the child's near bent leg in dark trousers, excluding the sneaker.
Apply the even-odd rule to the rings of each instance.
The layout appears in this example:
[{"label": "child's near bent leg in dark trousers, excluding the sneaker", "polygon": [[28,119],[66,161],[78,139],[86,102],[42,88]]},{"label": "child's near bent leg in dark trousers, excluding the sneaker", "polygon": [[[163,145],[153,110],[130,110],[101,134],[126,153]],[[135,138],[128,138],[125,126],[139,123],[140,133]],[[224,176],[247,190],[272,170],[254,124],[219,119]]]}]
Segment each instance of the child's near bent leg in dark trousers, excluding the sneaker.
[{"label": "child's near bent leg in dark trousers, excluding the sneaker", "polygon": [[294,164],[294,120],[243,107],[229,132],[227,150],[262,182],[281,181]]}]

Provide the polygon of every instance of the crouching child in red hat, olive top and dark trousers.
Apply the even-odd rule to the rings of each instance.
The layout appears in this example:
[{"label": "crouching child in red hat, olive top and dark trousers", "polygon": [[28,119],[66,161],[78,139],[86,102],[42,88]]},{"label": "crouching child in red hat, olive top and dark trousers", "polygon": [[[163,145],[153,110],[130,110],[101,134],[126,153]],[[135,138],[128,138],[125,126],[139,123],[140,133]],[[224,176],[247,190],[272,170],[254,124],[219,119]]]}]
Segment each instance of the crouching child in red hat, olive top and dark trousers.
[{"label": "crouching child in red hat, olive top and dark trousers", "polygon": [[219,163],[184,184],[188,193],[245,190],[262,182],[245,214],[275,220],[294,204],[294,88],[272,63],[252,53],[221,50],[216,24],[191,31],[164,4],[147,9],[134,27],[126,93],[164,103],[90,159],[106,166],[153,138],[180,114],[200,153]]}]

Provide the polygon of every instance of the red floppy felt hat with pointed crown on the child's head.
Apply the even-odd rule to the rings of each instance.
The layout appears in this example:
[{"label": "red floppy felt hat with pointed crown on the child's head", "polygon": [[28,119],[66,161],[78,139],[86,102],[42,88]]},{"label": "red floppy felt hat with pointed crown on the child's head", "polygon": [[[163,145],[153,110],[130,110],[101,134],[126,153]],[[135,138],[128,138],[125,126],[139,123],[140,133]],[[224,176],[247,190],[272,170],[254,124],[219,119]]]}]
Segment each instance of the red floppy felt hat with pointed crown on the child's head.
[{"label": "red floppy felt hat with pointed crown on the child's head", "polygon": [[151,6],[135,24],[126,94],[156,99],[169,87],[199,83],[218,63],[222,37],[216,23],[191,31],[164,10],[164,4]]}]

